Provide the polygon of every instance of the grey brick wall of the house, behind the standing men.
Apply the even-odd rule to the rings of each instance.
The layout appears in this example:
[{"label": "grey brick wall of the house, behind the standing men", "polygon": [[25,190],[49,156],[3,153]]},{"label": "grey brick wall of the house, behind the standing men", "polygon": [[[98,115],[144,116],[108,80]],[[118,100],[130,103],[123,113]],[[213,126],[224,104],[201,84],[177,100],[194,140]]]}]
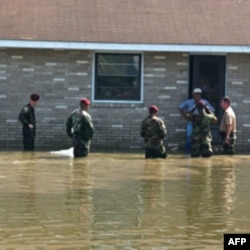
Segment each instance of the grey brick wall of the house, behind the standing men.
[{"label": "grey brick wall of the house, behind the standing men", "polygon": [[[142,104],[92,103],[96,149],[141,149],[140,123],[147,107],[156,104],[166,122],[169,148],[184,145],[185,120],[177,106],[188,97],[187,54],[144,54],[144,102]],[[227,58],[227,92],[238,118],[238,143],[249,146],[249,61],[247,55]],[[32,92],[41,100],[36,107],[38,150],[71,147],[65,120],[83,96],[92,94],[92,53],[60,50],[0,50],[0,147],[22,149],[21,124],[17,117]],[[241,124],[242,123],[242,124]],[[244,136],[243,136],[244,135]],[[247,137],[246,137],[247,135]]]}]

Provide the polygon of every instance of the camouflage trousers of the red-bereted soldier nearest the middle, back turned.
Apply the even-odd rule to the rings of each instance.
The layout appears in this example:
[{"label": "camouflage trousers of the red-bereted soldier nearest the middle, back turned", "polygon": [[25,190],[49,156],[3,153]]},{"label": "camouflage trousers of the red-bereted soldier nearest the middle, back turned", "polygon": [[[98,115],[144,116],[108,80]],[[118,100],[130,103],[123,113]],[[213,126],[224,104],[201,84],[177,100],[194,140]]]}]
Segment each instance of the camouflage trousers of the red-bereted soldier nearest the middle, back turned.
[{"label": "camouflage trousers of the red-bereted soldier nearest the middle, back turned", "polygon": [[166,158],[166,148],[160,139],[145,139],[145,158]]}]

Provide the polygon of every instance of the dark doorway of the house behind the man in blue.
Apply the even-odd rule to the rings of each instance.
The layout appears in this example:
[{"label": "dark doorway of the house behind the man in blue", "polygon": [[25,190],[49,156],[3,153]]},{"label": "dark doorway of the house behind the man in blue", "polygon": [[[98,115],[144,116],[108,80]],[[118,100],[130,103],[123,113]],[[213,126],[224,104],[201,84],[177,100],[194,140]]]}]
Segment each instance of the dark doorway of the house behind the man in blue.
[{"label": "dark doorway of the house behind the man in blue", "polygon": [[[191,56],[189,95],[194,88],[202,89],[202,98],[207,99],[215,109],[216,116],[222,117],[220,99],[225,95],[225,56]],[[220,141],[219,122],[212,125],[213,143]]]}]

